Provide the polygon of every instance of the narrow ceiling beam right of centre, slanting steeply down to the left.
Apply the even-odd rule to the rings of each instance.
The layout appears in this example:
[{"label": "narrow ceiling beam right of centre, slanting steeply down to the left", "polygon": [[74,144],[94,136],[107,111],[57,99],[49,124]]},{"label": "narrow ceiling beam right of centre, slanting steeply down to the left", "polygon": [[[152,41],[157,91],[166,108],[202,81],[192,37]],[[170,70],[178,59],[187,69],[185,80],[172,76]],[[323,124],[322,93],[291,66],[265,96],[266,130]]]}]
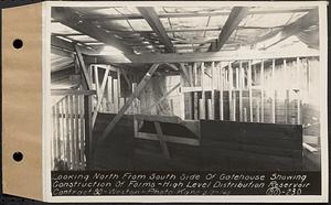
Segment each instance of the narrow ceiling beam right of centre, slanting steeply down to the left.
[{"label": "narrow ceiling beam right of centre, slanting steeply down to the left", "polygon": [[246,7],[234,7],[218,35],[218,40],[215,46],[210,46],[210,51],[216,52],[227,42],[232,33],[237,29],[241,21],[247,17],[248,8]]}]

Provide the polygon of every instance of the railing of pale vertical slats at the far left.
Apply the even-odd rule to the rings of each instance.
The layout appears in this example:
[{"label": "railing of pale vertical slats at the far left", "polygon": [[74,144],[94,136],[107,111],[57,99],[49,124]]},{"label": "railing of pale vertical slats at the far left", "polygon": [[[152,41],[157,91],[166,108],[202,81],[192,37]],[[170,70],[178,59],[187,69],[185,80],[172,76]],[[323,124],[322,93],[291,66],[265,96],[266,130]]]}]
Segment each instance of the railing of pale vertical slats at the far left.
[{"label": "railing of pale vertical slats at the far left", "polygon": [[90,153],[90,114],[94,91],[52,90],[61,98],[52,107],[52,170],[85,170]]}]

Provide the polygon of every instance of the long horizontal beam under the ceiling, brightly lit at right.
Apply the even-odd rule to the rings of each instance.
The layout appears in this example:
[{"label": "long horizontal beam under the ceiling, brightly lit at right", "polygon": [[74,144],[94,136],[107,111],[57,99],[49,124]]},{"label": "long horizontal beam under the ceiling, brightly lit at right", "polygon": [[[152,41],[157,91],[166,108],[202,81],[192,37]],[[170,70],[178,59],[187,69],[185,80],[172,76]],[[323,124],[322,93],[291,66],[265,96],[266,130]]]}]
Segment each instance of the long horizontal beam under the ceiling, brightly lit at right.
[{"label": "long horizontal beam under the ceiling, brightly lit at right", "polygon": [[247,60],[268,60],[268,58],[290,58],[290,57],[309,57],[319,56],[316,50],[309,51],[221,51],[206,53],[153,53],[142,55],[114,56],[96,54],[90,55],[98,57],[98,63],[137,63],[137,64],[153,64],[153,63],[190,63],[190,62],[220,62],[220,61],[247,61]]}]

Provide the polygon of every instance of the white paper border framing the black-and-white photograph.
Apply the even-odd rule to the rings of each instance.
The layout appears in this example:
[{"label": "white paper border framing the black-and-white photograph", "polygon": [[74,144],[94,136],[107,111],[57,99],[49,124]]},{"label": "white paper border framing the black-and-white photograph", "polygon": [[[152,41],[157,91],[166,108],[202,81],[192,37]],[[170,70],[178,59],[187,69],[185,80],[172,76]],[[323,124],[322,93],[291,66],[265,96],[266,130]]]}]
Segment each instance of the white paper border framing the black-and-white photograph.
[{"label": "white paper border framing the black-and-white photograph", "polygon": [[[51,108],[45,105],[50,105],[51,97],[51,8],[52,7],[107,7],[107,6],[177,6],[177,7],[205,7],[205,6],[318,6],[319,7],[319,32],[320,32],[320,67],[321,69],[321,100],[320,100],[320,120],[321,120],[321,195],[298,195],[298,196],[270,196],[270,195],[122,195],[122,196],[52,196],[51,193]],[[245,203],[325,203],[329,199],[329,161],[328,161],[328,23],[327,23],[327,1],[46,1],[43,2],[43,198],[45,202],[63,203],[63,202],[126,202],[126,203],[232,203],[232,202],[245,202]]]}]

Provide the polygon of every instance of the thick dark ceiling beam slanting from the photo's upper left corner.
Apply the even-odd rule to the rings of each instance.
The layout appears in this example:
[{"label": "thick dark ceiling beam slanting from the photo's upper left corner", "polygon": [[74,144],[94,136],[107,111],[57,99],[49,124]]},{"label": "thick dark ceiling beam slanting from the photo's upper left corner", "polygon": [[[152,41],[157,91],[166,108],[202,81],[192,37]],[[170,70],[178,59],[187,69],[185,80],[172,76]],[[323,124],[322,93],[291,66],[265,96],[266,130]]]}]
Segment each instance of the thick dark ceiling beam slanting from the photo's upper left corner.
[{"label": "thick dark ceiling beam slanting from the photo's upper left corner", "polygon": [[52,8],[52,18],[62,24],[78,31],[82,34],[96,39],[105,44],[117,47],[124,53],[132,53],[132,48],[124,44],[120,40],[108,33],[106,30],[94,25],[88,20],[83,20],[73,9],[70,8]]}]

